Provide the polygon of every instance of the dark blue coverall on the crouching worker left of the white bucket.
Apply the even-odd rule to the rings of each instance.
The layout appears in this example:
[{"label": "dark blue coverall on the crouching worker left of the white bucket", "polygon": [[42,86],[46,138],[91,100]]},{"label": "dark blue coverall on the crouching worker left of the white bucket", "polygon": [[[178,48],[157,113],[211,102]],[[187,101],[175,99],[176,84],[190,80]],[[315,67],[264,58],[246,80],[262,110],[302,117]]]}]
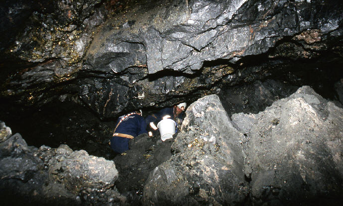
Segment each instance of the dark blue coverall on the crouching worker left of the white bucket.
[{"label": "dark blue coverall on the crouching worker left of the white bucket", "polygon": [[[147,133],[146,123],[145,123],[144,118],[141,115],[134,113],[129,116],[127,115],[120,116],[118,120],[116,121],[116,125],[118,124],[120,119],[123,117],[124,119],[120,122],[118,127],[115,129],[114,133],[127,134],[127,135],[131,135],[132,137],[136,137],[139,134]],[[127,151],[129,149],[128,140],[130,140],[130,138],[113,136],[111,138],[112,150],[118,153]]]}]

